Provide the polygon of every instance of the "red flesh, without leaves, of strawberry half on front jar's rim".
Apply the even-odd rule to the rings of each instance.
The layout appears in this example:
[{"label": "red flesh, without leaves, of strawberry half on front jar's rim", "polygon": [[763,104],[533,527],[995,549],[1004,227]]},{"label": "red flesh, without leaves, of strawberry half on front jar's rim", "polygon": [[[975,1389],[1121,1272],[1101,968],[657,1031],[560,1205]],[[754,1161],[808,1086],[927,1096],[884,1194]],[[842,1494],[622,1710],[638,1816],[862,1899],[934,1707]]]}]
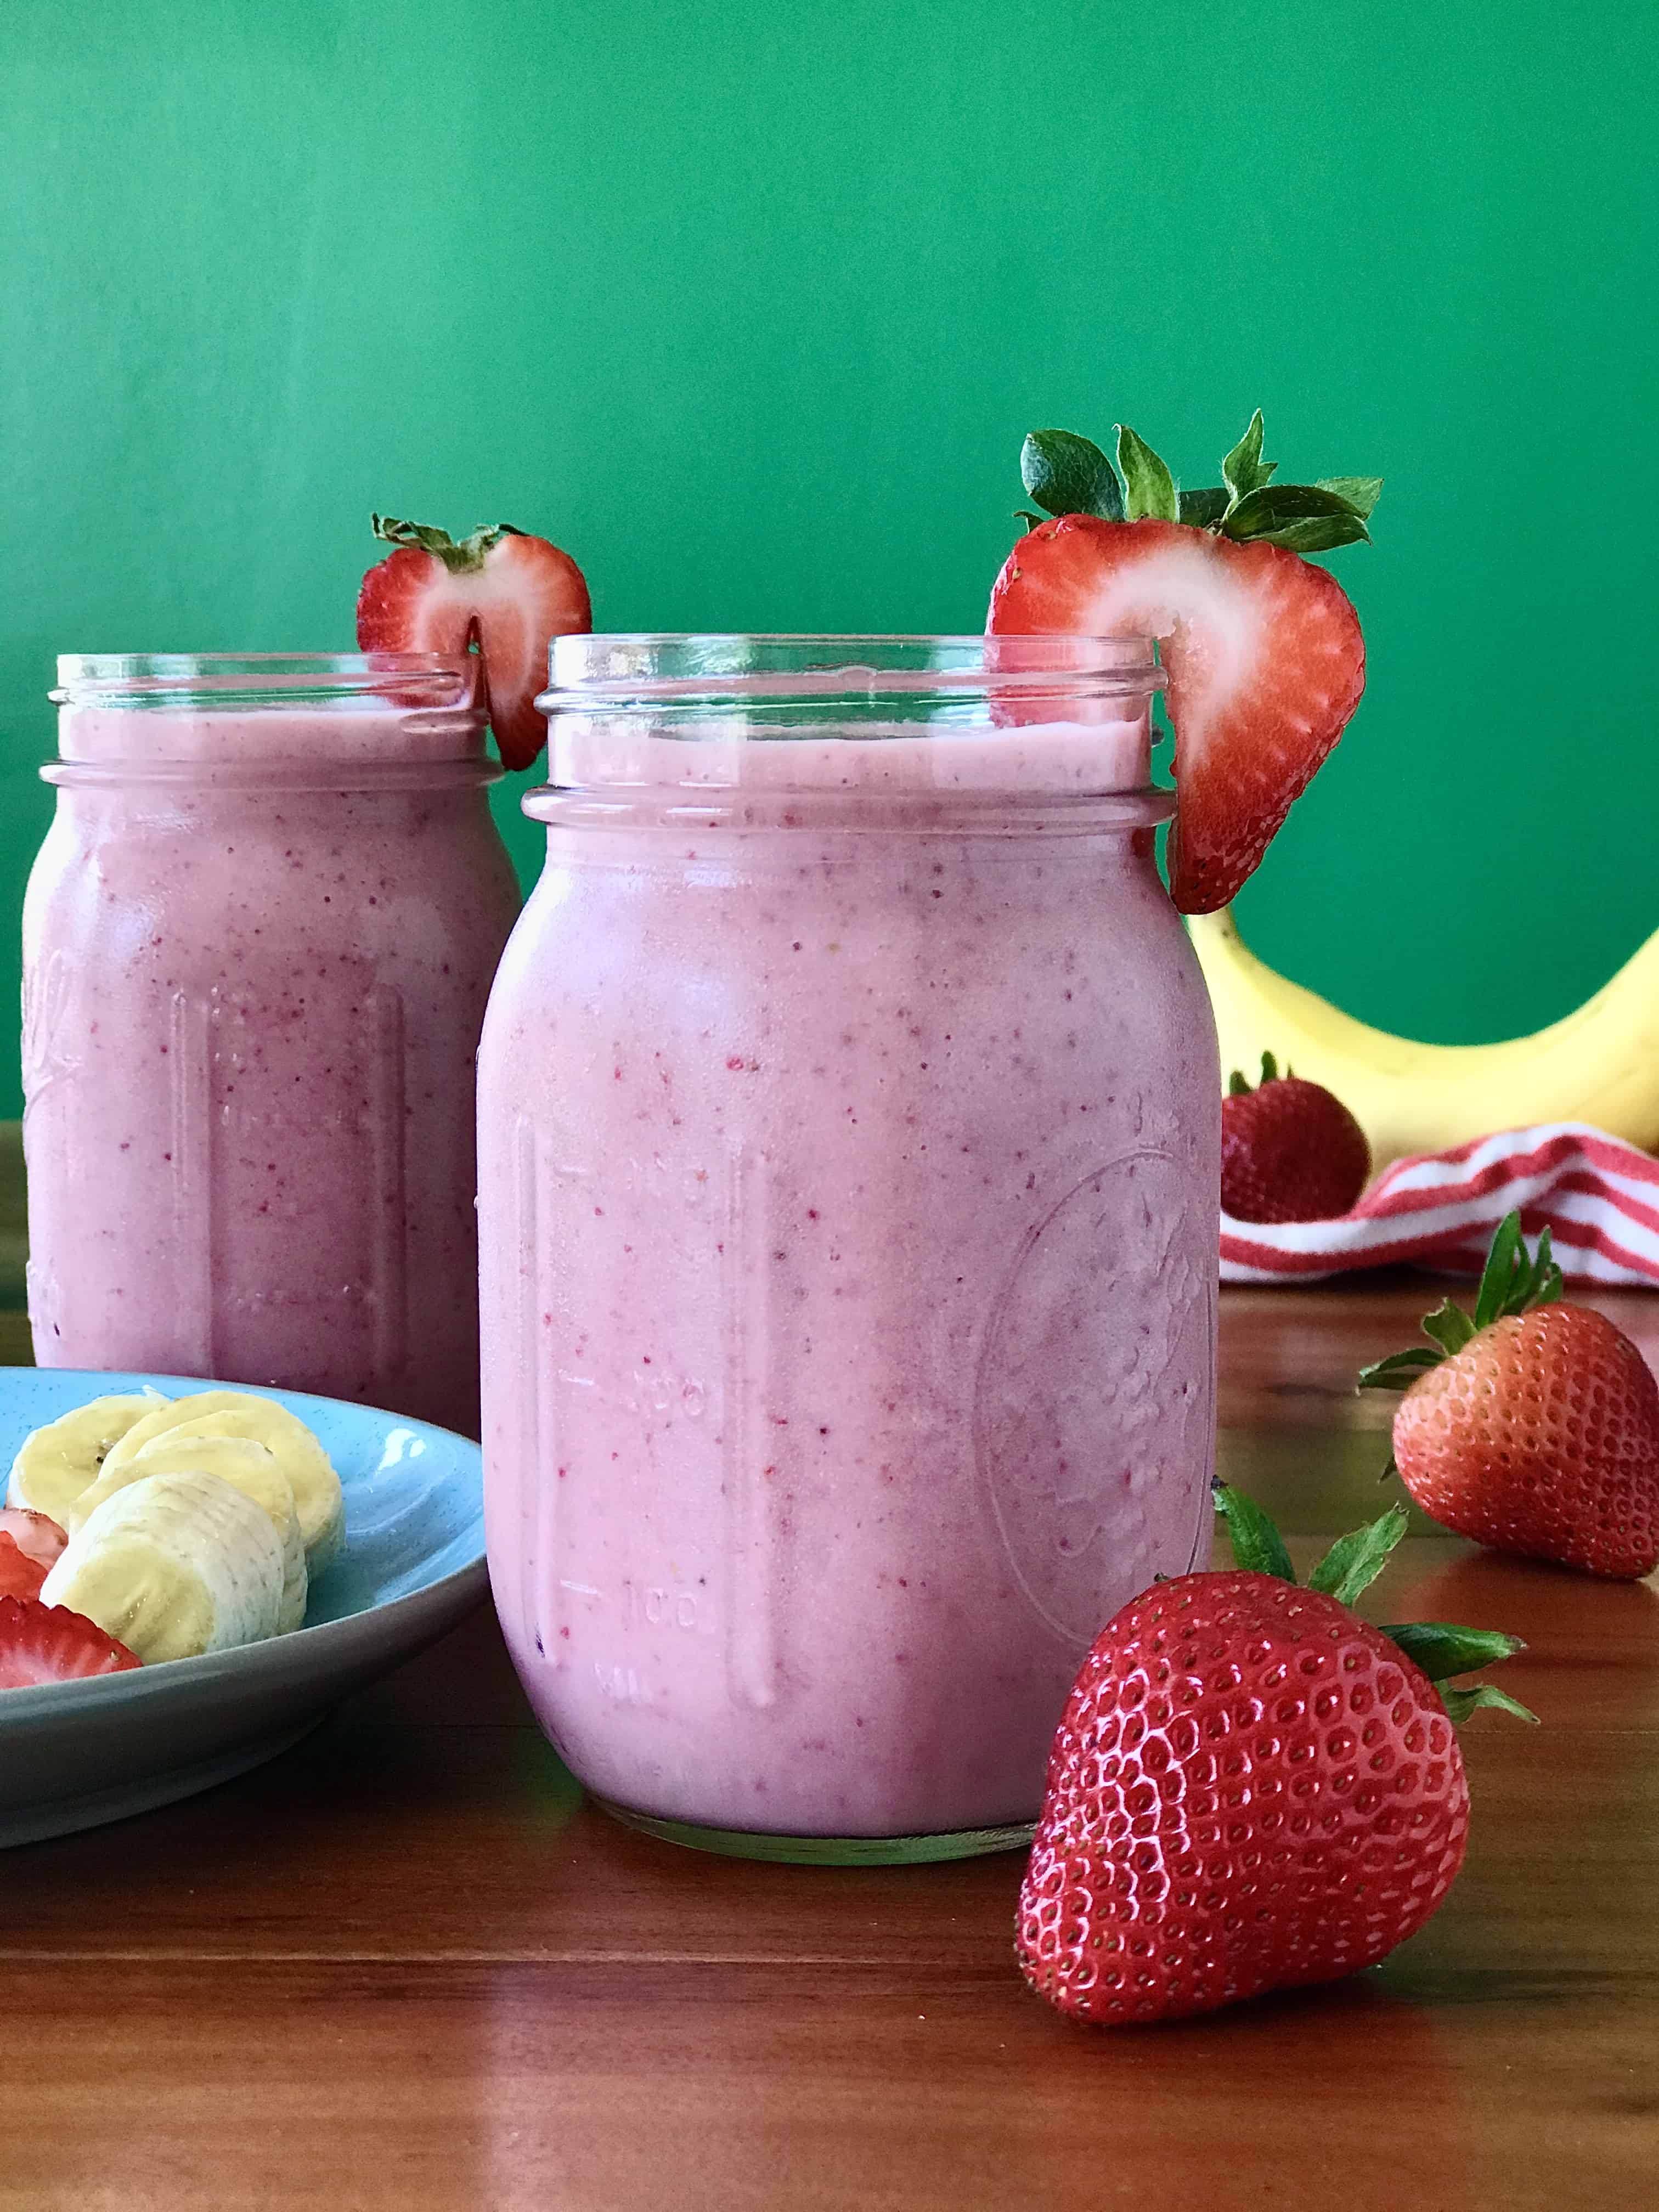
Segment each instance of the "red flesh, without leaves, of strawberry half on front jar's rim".
[{"label": "red flesh, without leaves, of strawberry half on front jar's rim", "polygon": [[1183,914],[1228,905],[1365,690],[1360,622],[1334,575],[1186,522],[1040,524],[1009,553],[987,628],[1159,639]]}]

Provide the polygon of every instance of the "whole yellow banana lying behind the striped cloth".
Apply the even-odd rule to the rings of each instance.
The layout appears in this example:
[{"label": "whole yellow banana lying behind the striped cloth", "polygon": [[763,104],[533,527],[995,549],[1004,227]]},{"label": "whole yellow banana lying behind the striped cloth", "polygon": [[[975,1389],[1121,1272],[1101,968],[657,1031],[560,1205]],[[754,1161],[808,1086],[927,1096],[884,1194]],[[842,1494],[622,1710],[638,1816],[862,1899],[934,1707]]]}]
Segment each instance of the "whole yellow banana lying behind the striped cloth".
[{"label": "whole yellow banana lying behind the striped cloth", "polygon": [[1500,1128],[1590,1121],[1659,1150],[1659,931],[1595,998],[1502,1044],[1418,1044],[1356,1022],[1250,951],[1232,914],[1194,914],[1221,1075],[1261,1055],[1325,1084],[1371,1141],[1371,1164],[1440,1152]]}]

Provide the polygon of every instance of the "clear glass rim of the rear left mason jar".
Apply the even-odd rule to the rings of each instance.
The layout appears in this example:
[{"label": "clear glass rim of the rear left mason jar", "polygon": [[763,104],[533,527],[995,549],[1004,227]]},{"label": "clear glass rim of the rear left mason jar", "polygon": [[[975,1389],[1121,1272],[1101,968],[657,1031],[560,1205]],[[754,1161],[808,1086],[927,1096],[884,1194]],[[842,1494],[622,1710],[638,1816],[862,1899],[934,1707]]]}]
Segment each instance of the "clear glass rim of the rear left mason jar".
[{"label": "clear glass rim of the rear left mason jar", "polygon": [[60,653],[53,706],[478,708],[476,653]]}]

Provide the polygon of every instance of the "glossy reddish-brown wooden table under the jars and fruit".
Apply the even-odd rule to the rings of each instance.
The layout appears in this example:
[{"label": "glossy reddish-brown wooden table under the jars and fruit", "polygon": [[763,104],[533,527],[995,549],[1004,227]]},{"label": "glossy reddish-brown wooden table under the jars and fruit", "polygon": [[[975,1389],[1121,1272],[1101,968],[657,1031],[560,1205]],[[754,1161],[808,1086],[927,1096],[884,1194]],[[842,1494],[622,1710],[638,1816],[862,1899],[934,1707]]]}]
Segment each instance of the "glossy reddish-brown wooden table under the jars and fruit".
[{"label": "glossy reddish-brown wooden table under the jars and fruit", "polygon": [[[1422,1287],[1223,1301],[1223,1473],[1303,1564],[1380,1509],[1349,1380]],[[1604,1303],[1659,1358],[1659,1298]],[[615,1827],[478,1615],[261,1774],[0,1860],[0,2205],[1659,2205],[1659,1597],[1422,1524],[1374,1608],[1531,1644],[1544,1725],[1467,1730],[1451,1898],[1358,1980],[1113,2033],[1013,1971],[1018,1856]]]}]

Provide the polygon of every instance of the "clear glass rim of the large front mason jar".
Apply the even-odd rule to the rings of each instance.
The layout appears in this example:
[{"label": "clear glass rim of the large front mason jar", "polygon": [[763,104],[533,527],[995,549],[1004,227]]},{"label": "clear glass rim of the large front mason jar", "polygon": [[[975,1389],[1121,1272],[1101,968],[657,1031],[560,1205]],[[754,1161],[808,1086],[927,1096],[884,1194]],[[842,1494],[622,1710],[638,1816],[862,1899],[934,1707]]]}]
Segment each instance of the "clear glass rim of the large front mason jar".
[{"label": "clear glass rim of the large front mason jar", "polygon": [[1150,637],[1040,633],[611,630],[555,637],[542,712],[785,699],[1148,699]]}]

